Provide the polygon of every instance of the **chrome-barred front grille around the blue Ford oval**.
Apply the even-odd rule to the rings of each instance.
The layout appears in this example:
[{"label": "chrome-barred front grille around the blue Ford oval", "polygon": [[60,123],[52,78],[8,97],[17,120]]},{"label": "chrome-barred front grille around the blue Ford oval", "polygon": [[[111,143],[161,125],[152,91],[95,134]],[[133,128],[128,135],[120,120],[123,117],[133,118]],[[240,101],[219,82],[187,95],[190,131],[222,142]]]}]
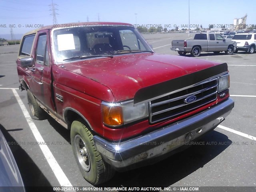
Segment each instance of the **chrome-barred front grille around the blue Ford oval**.
[{"label": "chrome-barred front grille around the blue Ford oval", "polygon": [[[176,118],[186,112],[204,106],[217,99],[217,92],[218,79],[214,78],[152,100],[150,101],[150,123]],[[196,96],[194,102],[184,102],[188,96],[192,95]]]}]

